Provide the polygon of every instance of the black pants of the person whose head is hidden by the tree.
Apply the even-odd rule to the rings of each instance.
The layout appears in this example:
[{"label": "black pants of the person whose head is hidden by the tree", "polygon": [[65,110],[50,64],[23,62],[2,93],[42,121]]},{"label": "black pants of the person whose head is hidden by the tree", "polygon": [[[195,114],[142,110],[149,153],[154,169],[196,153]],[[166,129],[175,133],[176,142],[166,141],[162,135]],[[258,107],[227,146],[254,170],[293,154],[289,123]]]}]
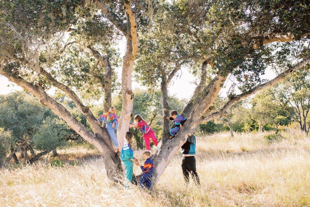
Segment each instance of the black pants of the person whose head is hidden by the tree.
[{"label": "black pants of the person whose head is hidden by the tree", "polygon": [[195,156],[183,157],[182,159],[182,171],[185,183],[189,183],[189,173],[196,185],[200,185],[199,177],[196,171],[196,159]]}]

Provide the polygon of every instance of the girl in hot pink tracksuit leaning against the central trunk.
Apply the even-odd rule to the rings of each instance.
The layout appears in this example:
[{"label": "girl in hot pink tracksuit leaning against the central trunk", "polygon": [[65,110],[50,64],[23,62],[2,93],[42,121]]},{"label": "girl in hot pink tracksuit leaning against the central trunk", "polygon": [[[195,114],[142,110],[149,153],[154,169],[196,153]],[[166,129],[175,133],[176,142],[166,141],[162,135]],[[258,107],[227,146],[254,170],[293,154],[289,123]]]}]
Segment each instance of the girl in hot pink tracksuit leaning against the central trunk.
[{"label": "girl in hot pink tracksuit leaning against the central trunk", "polygon": [[148,123],[143,120],[139,114],[135,115],[134,123],[129,125],[129,128],[131,127],[138,127],[138,129],[142,132],[146,150],[150,150],[150,138],[152,139],[157,150],[160,149],[160,147],[157,146],[158,143],[154,131],[151,129],[151,127],[148,126]]}]

